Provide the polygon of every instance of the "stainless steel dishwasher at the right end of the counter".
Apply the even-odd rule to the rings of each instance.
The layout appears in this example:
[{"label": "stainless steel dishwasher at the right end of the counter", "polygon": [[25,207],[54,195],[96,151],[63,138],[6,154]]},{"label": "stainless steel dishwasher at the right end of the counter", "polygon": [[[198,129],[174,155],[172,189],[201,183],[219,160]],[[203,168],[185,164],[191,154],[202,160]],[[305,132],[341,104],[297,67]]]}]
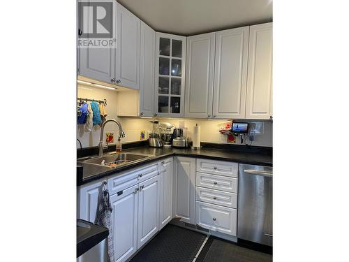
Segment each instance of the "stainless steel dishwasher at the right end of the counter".
[{"label": "stainless steel dishwasher at the right end of the counter", "polygon": [[239,164],[237,238],[273,245],[273,168]]}]

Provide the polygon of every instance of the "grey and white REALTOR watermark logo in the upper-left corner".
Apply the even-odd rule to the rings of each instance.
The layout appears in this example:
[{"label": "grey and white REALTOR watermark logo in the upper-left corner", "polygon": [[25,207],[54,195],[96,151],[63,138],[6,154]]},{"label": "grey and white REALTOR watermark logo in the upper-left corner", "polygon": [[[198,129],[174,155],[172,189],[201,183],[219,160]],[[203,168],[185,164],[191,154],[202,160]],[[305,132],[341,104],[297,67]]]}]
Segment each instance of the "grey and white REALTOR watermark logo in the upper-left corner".
[{"label": "grey and white REALTOR watermark logo in the upper-left corner", "polygon": [[77,48],[116,48],[117,10],[114,0],[78,0]]}]

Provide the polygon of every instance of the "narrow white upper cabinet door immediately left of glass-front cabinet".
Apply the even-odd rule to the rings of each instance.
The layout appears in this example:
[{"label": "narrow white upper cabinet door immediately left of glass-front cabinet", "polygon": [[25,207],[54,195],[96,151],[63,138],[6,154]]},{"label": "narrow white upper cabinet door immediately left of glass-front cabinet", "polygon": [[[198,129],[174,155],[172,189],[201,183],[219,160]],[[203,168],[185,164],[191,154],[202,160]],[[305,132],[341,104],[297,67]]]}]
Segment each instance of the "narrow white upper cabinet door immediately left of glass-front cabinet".
[{"label": "narrow white upper cabinet door immediately left of glass-front cabinet", "polygon": [[141,22],[140,26],[140,116],[154,115],[155,31]]}]

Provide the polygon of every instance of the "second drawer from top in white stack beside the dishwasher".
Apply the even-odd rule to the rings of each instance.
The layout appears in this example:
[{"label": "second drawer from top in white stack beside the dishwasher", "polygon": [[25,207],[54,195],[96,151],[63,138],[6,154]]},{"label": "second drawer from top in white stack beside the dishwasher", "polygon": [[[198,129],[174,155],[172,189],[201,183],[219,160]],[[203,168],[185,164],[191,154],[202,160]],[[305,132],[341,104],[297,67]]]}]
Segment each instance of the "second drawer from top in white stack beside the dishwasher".
[{"label": "second drawer from top in white stack beside the dishwasher", "polygon": [[209,175],[205,173],[196,173],[196,185],[209,189],[217,189],[237,193],[237,178],[223,177],[221,175]]}]

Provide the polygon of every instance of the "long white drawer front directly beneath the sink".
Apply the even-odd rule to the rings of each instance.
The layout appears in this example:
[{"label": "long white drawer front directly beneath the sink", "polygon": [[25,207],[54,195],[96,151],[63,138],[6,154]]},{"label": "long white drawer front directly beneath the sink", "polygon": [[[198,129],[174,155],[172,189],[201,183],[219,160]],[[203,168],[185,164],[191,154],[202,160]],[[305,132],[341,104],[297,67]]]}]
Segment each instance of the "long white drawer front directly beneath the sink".
[{"label": "long white drawer front directly beneath the sink", "polygon": [[108,180],[109,194],[112,196],[121,190],[132,187],[133,185],[143,182],[155,175],[158,175],[158,164],[134,169],[122,175],[112,177]]}]

